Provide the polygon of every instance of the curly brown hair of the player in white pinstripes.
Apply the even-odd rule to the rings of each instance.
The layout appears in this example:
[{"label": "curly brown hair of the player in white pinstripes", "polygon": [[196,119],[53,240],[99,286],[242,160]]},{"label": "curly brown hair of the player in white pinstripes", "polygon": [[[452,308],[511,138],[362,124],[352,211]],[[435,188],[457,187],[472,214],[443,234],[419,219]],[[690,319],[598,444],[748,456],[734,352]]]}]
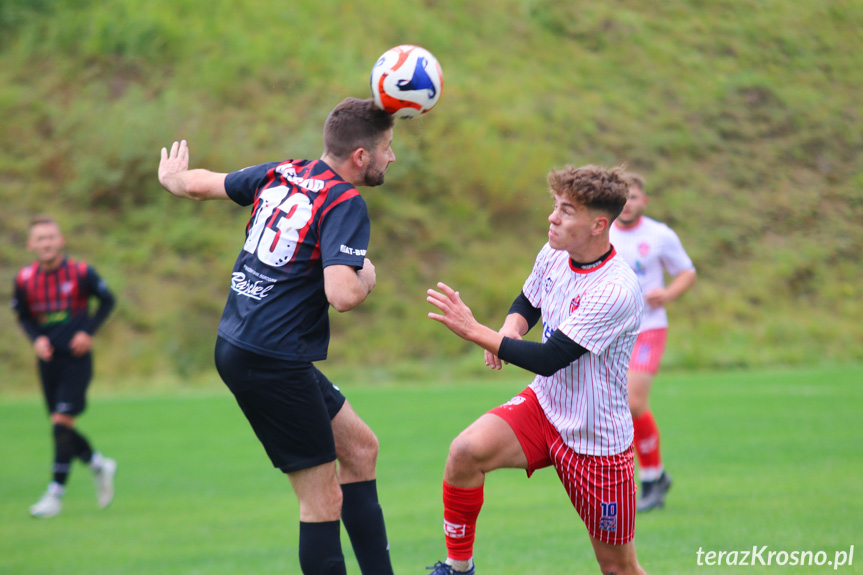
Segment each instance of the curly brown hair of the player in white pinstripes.
[{"label": "curly brown hair of the player in white pinstripes", "polygon": [[629,178],[623,166],[567,165],[548,174],[552,195],[560,194],[589,209],[600,210],[613,220],[623,211],[629,197]]}]

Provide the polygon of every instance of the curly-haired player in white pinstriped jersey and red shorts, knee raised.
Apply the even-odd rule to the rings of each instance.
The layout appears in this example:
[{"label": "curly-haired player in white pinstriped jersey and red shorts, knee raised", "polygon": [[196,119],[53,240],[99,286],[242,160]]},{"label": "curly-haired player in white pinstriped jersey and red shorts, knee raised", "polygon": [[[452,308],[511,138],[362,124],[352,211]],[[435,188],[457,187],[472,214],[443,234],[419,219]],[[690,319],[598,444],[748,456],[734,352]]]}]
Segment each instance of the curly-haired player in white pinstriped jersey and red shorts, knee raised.
[{"label": "curly-haired player in white pinstriped jersey and red shorts, knee raised", "polygon": [[[548,243],[499,332],[477,322],[459,293],[439,283],[429,317],[501,361],[537,373],[452,442],[443,483],[447,559],[432,575],[473,574],[485,475],[554,466],[590,534],[603,573],[643,574],[635,554],[635,478],[626,370],[644,298],[608,238],[623,209],[622,168],[554,170]],[[542,343],[521,338],[542,319]]]}]

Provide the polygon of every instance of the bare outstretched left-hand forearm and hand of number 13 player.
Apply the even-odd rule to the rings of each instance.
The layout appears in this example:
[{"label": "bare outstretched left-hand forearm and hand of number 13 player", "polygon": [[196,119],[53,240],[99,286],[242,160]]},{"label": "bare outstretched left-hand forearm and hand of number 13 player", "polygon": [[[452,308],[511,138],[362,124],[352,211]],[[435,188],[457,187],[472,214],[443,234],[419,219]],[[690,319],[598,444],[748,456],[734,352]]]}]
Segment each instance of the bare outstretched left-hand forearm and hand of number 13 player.
[{"label": "bare outstretched left-hand forearm and hand of number 13 player", "polygon": [[159,183],[173,195],[191,200],[227,200],[227,174],[210,170],[189,169],[189,145],[186,140],[174,142],[169,151],[162,148]]}]

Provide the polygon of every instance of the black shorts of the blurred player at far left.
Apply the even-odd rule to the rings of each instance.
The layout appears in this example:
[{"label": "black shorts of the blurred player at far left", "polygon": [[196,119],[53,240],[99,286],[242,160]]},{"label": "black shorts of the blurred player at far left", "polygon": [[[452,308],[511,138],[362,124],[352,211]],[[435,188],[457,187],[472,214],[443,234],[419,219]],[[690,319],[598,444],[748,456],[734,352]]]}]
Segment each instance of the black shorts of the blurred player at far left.
[{"label": "black shorts of the blurred player at far left", "polygon": [[54,354],[51,361],[40,359],[39,378],[48,413],[79,415],[87,407],[87,388],[93,379],[93,355]]}]

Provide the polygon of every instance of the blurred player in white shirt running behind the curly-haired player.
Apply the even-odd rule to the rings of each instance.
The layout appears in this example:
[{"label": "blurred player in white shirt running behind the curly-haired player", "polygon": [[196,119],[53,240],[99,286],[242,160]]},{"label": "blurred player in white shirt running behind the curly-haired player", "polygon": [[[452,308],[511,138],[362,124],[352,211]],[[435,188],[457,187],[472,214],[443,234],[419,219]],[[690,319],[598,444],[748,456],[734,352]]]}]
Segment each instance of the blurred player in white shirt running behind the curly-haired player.
[{"label": "blurred player in white shirt running behind the curly-haired player", "polygon": [[[635,427],[635,453],[642,481],[638,511],[665,505],[671,477],[659,452],[659,428],[648,406],[648,394],[659,370],[668,335],[665,306],[695,283],[695,267],[677,234],[644,215],[647,194],[644,178],[629,173],[629,200],[611,227],[611,243],[638,276],[647,305],[638,341],[629,364],[629,406]],[[673,279],[665,285],[665,274]]]}]

